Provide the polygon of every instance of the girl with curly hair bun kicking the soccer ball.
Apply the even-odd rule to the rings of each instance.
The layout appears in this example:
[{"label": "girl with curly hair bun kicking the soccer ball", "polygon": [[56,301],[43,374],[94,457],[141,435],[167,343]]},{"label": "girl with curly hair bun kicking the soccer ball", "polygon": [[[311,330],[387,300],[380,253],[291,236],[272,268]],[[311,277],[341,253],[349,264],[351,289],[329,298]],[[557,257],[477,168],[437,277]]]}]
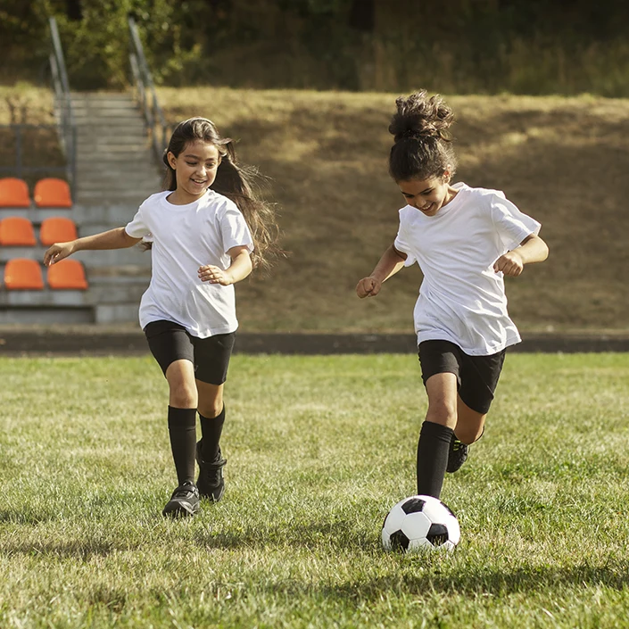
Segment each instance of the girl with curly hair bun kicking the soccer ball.
[{"label": "girl with curly hair bun kicking the soccer ball", "polygon": [[428,410],[417,481],[418,494],[439,498],[446,471],[458,470],[483,435],[506,348],[520,341],[503,278],[544,261],[548,247],[540,223],[501,191],[451,183],[453,115],[439,95],[421,90],[396,104],[389,173],[406,205],[395,241],[356,292],[375,297],[402,267],[422,270],[414,319]]}]

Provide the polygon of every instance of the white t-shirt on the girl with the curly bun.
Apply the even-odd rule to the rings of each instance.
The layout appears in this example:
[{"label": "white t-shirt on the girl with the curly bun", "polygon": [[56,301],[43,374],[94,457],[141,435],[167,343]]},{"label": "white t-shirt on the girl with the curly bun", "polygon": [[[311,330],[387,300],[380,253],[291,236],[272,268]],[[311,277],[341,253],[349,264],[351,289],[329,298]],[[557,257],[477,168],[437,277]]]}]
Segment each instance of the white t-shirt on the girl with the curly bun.
[{"label": "white t-shirt on the girl with the curly bun", "polygon": [[493,263],[541,225],[500,190],[453,187],[459,194],[435,216],[401,208],[394,246],[407,254],[405,266],[417,261],[424,274],[414,310],[418,343],[451,341],[486,356],[521,340]]}]

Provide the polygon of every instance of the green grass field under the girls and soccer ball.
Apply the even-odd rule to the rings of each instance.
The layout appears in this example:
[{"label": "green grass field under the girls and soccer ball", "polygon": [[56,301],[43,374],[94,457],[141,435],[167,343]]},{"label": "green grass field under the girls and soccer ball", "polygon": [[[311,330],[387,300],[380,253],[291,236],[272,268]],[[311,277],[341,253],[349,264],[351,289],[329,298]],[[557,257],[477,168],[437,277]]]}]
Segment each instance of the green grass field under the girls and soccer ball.
[{"label": "green grass field under the girls and soccer ball", "polygon": [[621,627],[629,355],[509,356],[486,435],[446,479],[452,556],[381,550],[414,492],[413,356],[246,357],[228,489],[193,521],[153,360],[0,360],[0,626]]}]

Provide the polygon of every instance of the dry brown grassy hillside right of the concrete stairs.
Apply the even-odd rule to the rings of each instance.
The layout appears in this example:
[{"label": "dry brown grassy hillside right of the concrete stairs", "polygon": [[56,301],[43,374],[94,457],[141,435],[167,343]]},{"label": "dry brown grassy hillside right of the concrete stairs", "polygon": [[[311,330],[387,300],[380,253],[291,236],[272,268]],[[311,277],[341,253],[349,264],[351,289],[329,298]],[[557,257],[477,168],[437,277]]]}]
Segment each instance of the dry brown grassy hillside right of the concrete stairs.
[{"label": "dry brown grassy hillside right of the concrete stairs", "polygon": [[[386,173],[395,95],[161,89],[172,122],[214,120],[271,179],[291,253],[238,286],[244,330],[409,331],[421,275],[402,269],[376,298],[354,286],[393,242],[401,195]],[[451,96],[456,179],[504,190],[542,222],[550,258],[509,278],[523,330],[629,327],[629,101]]]}]

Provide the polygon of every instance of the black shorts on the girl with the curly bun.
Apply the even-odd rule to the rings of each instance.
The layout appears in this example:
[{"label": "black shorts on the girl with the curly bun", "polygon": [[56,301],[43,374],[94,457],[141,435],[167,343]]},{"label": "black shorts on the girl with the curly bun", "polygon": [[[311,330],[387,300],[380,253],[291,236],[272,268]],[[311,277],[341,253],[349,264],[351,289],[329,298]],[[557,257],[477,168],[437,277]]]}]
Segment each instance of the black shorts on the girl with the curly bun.
[{"label": "black shorts on the girl with the curly bun", "polygon": [[470,356],[450,341],[423,341],[418,347],[421,379],[426,385],[426,380],[435,374],[454,374],[460,399],[484,415],[492,405],[505,353],[502,350],[489,356]]}]

